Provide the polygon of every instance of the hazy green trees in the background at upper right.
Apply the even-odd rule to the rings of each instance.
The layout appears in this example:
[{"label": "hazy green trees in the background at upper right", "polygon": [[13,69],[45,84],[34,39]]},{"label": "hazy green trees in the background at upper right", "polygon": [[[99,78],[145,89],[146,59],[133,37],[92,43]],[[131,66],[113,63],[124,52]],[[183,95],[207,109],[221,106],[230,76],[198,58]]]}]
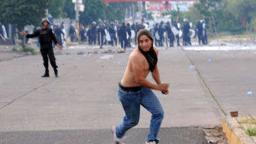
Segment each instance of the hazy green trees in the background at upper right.
[{"label": "hazy green trees in the background at upper right", "polygon": [[[177,10],[165,12],[163,15],[172,15],[173,19],[179,17],[180,20],[186,18],[193,24],[204,19],[208,26],[214,24],[218,31],[242,33],[256,28],[255,12],[255,0],[200,0],[188,12],[181,12],[178,6]],[[209,17],[213,17],[214,22],[209,22]]]}]

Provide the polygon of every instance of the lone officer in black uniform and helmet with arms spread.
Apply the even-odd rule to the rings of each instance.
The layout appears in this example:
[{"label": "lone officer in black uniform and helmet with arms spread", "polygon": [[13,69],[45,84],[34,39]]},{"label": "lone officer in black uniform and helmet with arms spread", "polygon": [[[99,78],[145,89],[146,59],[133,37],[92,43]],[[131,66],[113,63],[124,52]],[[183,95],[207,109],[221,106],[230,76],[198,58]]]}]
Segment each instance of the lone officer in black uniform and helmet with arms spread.
[{"label": "lone officer in black uniform and helmet with arms spread", "polygon": [[24,31],[20,31],[20,35],[26,35],[28,38],[34,38],[38,36],[39,42],[40,42],[40,52],[42,54],[43,60],[44,60],[44,67],[45,67],[45,74],[42,77],[49,77],[49,68],[48,68],[48,57],[50,60],[50,63],[52,65],[52,68],[54,69],[54,74],[56,77],[58,77],[58,66],[55,62],[54,52],[52,49],[52,41],[57,45],[58,49],[60,51],[62,50],[62,47],[60,44],[58,44],[55,35],[52,33],[52,29],[48,28],[48,25],[50,24],[49,20],[47,18],[42,19],[42,29],[38,29],[33,34],[29,35]]}]

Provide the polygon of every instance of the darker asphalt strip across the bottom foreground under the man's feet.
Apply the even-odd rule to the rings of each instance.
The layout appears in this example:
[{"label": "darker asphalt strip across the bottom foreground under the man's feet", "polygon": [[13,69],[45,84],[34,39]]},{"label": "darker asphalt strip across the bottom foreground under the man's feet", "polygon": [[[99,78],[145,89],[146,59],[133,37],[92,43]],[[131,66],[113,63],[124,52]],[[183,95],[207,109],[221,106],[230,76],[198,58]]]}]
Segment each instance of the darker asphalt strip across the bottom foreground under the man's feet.
[{"label": "darker asphalt strip across the bottom foreground under the man's feet", "polygon": [[[125,143],[145,143],[148,129],[131,129],[125,134]],[[0,132],[0,143],[12,144],[111,144],[109,129],[66,130],[66,131],[22,131]],[[169,144],[206,144],[204,132],[196,127],[163,128],[159,132],[160,143]]]}]

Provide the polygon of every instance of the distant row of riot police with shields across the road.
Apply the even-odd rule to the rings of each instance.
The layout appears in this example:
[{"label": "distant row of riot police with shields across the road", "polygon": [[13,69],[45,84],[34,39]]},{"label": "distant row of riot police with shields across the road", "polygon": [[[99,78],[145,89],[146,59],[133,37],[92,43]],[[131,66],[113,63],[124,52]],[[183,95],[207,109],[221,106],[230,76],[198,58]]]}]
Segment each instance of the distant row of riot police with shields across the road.
[{"label": "distant row of riot police with shields across the road", "polygon": [[[96,22],[92,22],[92,25],[84,29],[82,26],[79,35],[81,42],[88,41],[89,45],[100,45],[100,48],[103,48],[103,45],[120,45],[124,50],[127,47],[131,47],[131,42],[136,44],[136,33],[140,29],[148,29],[155,39],[156,46],[166,46],[173,47],[175,39],[177,40],[177,46],[180,46],[180,38],[182,38],[182,45],[192,45],[191,38],[196,38],[198,36],[198,44],[207,44],[207,32],[204,20],[198,20],[195,30],[191,27],[191,22],[189,23],[188,19],[183,20],[183,25],[180,26],[178,20],[174,20],[173,24],[170,22],[159,22],[154,24],[152,28],[149,28],[149,23],[145,22],[144,19],[141,19],[141,22],[136,22],[130,24],[129,22],[125,24],[118,24],[118,22],[106,22],[101,23],[97,26]],[[54,27],[54,33],[60,45],[62,45],[63,39],[65,40],[63,33],[63,24],[61,26]],[[74,26],[70,26],[68,35],[70,36],[70,42],[74,42],[76,39],[77,31]]]}]

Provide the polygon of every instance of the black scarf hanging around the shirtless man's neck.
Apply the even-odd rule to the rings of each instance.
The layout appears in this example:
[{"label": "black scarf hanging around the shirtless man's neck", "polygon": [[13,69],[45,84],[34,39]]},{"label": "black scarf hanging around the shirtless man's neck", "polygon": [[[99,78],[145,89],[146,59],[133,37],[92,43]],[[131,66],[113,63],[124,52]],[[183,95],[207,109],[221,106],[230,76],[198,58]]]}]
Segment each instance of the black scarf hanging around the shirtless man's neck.
[{"label": "black scarf hanging around the shirtless man's neck", "polygon": [[150,47],[149,51],[143,51],[140,45],[139,45],[139,50],[143,54],[143,56],[145,56],[145,58],[147,59],[150,72],[153,72],[157,64],[157,55],[156,55],[156,51],[153,48],[153,44]]}]

